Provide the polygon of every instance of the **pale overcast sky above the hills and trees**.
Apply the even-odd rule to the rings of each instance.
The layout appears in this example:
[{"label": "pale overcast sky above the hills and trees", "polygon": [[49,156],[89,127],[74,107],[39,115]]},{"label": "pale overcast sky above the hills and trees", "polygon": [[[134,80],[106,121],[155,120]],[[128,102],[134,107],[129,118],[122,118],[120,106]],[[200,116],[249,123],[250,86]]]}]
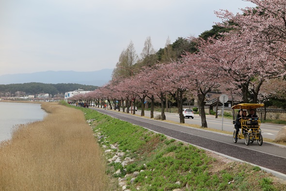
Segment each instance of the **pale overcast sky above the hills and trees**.
[{"label": "pale overcast sky above the hills and trees", "polygon": [[178,37],[197,37],[241,13],[243,0],[0,0],[0,75],[114,68],[132,41],[140,56]]}]

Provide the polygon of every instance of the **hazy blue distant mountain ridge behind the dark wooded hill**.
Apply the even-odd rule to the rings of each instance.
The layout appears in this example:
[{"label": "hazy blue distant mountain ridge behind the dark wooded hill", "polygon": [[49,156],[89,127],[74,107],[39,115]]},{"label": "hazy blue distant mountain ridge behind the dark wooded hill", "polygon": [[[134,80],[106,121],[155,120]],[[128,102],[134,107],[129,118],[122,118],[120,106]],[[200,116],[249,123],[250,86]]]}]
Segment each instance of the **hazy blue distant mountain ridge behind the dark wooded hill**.
[{"label": "hazy blue distant mountain ridge behind the dark wooded hill", "polygon": [[0,76],[0,84],[39,82],[102,86],[111,80],[112,71],[113,69],[102,69],[92,72],[46,71],[30,74],[6,74]]}]

